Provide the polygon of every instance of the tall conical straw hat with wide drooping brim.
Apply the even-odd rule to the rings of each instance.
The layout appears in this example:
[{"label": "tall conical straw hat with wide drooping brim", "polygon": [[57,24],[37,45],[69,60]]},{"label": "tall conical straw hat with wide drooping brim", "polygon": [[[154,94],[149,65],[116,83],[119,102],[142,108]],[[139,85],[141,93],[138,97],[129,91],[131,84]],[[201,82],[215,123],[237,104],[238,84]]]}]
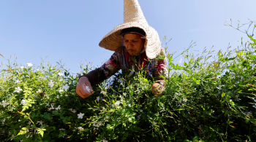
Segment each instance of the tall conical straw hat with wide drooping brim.
[{"label": "tall conical straw hat with wide drooping brim", "polygon": [[138,0],[124,0],[124,23],[117,25],[105,35],[99,42],[99,47],[107,50],[116,51],[123,46],[123,39],[120,36],[124,28],[137,27],[143,29],[146,33],[145,50],[146,55],[150,59],[154,59],[159,55],[161,50],[161,42],[157,31],[148,25],[146,18],[140,8]]}]

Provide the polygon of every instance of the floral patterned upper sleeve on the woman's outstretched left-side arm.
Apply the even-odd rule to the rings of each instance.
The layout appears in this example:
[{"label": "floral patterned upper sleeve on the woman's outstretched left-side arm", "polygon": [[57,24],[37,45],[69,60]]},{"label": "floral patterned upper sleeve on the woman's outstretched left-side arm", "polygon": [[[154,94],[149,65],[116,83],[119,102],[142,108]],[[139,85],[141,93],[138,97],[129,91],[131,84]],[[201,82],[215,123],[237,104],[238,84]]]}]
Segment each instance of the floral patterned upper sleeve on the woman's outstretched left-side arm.
[{"label": "floral patterned upper sleeve on the woman's outstretched left-side arm", "polygon": [[102,71],[107,79],[110,78],[110,76],[113,74],[116,74],[116,72],[121,69],[116,52],[114,52],[110,59],[107,60],[102,66],[100,66],[100,68],[102,68]]}]

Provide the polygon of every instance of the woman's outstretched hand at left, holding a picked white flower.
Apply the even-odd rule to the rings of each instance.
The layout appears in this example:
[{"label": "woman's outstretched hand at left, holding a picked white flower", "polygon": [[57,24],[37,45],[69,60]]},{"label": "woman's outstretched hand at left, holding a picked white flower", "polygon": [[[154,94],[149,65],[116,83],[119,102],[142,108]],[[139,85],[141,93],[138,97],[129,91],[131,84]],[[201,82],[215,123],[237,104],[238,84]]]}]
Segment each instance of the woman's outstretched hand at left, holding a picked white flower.
[{"label": "woman's outstretched hand at left, holding a picked white flower", "polygon": [[[87,88],[87,89],[86,89]],[[89,97],[94,91],[91,88],[91,83],[87,79],[86,76],[80,77],[78,80],[78,86],[76,87],[76,93],[81,97],[81,98],[87,98]]]}]

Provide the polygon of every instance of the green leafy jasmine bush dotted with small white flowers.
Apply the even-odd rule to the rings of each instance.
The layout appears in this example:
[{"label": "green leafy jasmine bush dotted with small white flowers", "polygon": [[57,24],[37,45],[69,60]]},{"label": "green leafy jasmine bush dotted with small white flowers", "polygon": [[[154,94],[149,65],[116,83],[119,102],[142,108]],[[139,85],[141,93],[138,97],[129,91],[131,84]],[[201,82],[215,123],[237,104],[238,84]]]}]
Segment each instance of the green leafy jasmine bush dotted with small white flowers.
[{"label": "green leafy jasmine bush dotted with small white flowers", "polygon": [[[252,25],[252,22],[251,22]],[[254,28],[256,25],[254,25]],[[253,29],[254,29],[253,28]],[[252,32],[253,33],[253,32]],[[79,75],[42,63],[22,68],[9,60],[0,77],[2,141],[255,141],[256,40],[241,49],[167,54],[162,95],[143,71],[122,74],[75,93]],[[84,74],[92,68],[86,65]]]}]

